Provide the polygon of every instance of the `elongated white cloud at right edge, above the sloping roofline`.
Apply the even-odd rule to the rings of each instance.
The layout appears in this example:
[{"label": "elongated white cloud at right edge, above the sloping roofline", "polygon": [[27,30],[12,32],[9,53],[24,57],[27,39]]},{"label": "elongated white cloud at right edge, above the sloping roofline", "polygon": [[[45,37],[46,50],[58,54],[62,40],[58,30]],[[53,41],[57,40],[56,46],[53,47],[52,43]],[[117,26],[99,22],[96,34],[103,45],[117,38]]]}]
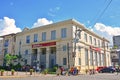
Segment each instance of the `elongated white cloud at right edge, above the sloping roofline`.
[{"label": "elongated white cloud at right edge, above the sloping roofline", "polygon": [[120,35],[120,27],[112,27],[112,26],[106,26],[102,23],[96,23],[95,28],[98,31],[106,32],[111,36]]}]

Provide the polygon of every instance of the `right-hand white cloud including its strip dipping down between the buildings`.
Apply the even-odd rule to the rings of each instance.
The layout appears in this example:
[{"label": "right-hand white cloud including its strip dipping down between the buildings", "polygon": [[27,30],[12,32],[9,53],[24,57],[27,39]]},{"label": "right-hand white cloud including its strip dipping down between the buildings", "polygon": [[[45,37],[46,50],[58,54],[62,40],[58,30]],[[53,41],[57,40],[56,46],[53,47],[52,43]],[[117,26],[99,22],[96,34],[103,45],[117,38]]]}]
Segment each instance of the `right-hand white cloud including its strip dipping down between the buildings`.
[{"label": "right-hand white cloud including its strip dipping down between the buildings", "polygon": [[105,37],[110,41],[110,46],[113,45],[113,36],[120,35],[120,27],[106,26],[102,23],[96,23],[94,31],[100,36]]}]

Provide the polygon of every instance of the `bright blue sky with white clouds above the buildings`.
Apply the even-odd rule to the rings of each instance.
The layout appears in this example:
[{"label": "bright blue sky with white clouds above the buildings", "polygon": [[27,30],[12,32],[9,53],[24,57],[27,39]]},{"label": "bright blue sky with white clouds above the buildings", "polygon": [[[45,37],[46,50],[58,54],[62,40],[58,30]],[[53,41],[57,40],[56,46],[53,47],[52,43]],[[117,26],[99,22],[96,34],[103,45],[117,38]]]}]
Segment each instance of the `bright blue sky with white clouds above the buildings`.
[{"label": "bright blue sky with white clouds above the buildings", "polygon": [[76,19],[112,44],[120,35],[120,0],[0,0],[0,36]]}]

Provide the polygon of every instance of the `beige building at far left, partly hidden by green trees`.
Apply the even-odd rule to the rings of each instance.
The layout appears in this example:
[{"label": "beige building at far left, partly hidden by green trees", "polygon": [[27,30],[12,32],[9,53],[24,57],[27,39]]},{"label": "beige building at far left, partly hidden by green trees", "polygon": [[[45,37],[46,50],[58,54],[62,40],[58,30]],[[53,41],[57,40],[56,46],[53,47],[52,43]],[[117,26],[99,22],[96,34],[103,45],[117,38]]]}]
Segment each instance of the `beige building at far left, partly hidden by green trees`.
[{"label": "beige building at far left, partly hidden by green trees", "polygon": [[15,42],[16,42],[15,35],[16,34],[12,33],[8,35],[0,36],[0,38],[2,38],[2,41],[0,44],[2,49],[1,56],[3,57],[1,58],[3,63],[2,66],[6,65],[6,62],[4,61],[4,56],[6,54],[11,54],[11,55],[15,54]]}]

